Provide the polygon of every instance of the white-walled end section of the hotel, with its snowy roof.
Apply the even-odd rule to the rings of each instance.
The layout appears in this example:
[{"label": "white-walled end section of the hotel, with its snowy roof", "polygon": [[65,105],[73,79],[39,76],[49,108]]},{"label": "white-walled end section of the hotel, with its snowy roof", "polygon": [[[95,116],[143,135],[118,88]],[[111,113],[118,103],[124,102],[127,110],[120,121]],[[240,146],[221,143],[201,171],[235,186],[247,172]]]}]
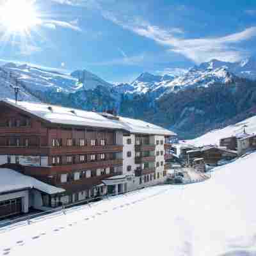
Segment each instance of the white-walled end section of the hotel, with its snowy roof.
[{"label": "white-walled end section of the hotel, with its snowy roof", "polygon": [[127,190],[163,183],[170,168],[168,161],[172,159],[170,140],[177,134],[141,120],[109,113],[102,115],[124,125],[127,131],[123,137],[123,175],[127,178]]}]

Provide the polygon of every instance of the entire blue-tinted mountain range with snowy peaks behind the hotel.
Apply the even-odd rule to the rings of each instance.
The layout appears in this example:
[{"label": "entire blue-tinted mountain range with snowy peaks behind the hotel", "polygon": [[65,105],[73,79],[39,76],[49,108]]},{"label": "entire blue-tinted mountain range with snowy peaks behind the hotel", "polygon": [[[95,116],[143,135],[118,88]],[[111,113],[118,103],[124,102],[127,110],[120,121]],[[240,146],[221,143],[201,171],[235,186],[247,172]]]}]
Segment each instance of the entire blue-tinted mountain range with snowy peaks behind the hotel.
[{"label": "entire blue-tinted mountain range with snowy peaks behind the hotel", "polygon": [[[142,73],[132,83],[111,84],[87,70],[61,74],[29,65],[0,67],[1,98],[43,101],[94,111],[117,109],[193,138],[253,115],[256,60],[211,60],[183,74]],[[248,94],[250,92],[250,95]],[[238,94],[243,93],[243,94]]]}]

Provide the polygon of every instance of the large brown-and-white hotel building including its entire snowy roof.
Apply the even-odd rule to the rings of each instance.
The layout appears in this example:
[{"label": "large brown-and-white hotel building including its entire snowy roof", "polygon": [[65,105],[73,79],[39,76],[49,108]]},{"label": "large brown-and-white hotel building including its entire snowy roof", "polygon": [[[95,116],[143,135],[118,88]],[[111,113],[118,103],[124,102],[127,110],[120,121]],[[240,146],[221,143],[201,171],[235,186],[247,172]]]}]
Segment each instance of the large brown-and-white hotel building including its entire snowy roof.
[{"label": "large brown-and-white hotel building including its entire snowy roof", "polygon": [[58,207],[163,182],[171,131],[141,120],[42,103],[0,101],[0,168],[64,192]]}]

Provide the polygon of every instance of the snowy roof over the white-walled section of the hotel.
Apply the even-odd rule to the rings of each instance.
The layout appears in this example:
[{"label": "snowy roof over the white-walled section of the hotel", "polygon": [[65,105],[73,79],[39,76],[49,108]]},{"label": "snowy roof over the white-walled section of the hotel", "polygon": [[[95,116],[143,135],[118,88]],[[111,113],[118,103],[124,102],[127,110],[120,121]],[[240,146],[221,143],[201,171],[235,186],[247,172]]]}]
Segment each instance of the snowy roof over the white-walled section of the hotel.
[{"label": "snowy roof over the white-walled section of the hotel", "polygon": [[116,121],[125,127],[125,130],[136,134],[157,134],[165,136],[176,136],[172,131],[164,129],[158,125],[150,124],[148,122],[132,119],[127,117],[118,116],[119,120]]}]

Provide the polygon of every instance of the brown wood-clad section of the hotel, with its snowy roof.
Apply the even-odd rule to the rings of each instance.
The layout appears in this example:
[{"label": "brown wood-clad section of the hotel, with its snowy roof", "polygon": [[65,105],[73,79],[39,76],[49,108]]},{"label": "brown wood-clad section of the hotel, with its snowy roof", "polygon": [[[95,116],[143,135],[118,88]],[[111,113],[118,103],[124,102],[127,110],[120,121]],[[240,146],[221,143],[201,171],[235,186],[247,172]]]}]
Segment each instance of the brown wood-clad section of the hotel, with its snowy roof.
[{"label": "brown wood-clad section of the hotel, with its snowy roof", "polygon": [[106,195],[102,180],[122,175],[121,124],[48,104],[2,100],[0,106],[0,164],[20,164],[24,175],[65,189],[45,196],[45,206]]}]

